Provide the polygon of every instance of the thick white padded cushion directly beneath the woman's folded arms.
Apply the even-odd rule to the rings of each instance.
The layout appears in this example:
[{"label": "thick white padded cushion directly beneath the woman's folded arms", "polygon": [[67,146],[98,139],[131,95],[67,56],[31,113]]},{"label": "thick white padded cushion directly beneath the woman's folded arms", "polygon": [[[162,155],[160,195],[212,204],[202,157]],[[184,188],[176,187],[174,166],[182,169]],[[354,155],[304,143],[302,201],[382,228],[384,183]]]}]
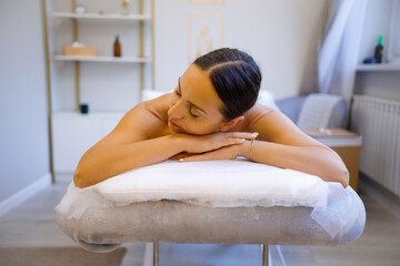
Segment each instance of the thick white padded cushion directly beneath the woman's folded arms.
[{"label": "thick white padded cushion directly beneath the woman's folded arms", "polygon": [[174,200],[214,207],[326,207],[320,177],[248,160],[162,163],[128,171],[96,185],[119,204]]}]

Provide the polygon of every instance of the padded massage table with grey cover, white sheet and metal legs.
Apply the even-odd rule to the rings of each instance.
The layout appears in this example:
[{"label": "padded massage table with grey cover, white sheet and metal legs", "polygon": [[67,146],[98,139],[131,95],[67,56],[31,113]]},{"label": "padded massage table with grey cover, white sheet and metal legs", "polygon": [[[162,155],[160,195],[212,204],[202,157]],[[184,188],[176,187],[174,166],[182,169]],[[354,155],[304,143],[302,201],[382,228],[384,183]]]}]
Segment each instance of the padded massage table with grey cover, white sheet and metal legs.
[{"label": "padded massage table with grey cover, white sheet and metal legs", "polygon": [[60,229],[82,248],[147,242],[153,265],[159,243],[260,244],[268,265],[270,244],[341,245],[366,225],[350,186],[241,157],[167,160],[86,188],[72,181],[56,211]]}]

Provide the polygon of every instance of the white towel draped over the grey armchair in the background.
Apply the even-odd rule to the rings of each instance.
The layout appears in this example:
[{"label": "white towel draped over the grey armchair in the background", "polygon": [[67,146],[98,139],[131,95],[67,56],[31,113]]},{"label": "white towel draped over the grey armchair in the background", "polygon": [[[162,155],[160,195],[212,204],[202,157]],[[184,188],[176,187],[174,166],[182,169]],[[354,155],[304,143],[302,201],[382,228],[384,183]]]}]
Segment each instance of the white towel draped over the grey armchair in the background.
[{"label": "white towel draped over the grey armchair in the background", "polygon": [[332,110],[341,100],[341,96],[322,93],[308,95],[300,110],[297,125],[300,129],[328,127]]}]

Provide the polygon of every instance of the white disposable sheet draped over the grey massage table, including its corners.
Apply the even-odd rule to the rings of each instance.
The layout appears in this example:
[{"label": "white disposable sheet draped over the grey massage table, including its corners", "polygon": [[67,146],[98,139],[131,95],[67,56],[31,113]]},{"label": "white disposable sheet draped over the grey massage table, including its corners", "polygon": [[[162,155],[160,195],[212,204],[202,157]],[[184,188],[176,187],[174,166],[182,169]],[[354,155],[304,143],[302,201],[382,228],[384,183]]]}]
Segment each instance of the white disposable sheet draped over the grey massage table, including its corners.
[{"label": "white disposable sheet draped over the grey massage table, including its corners", "polygon": [[[79,219],[88,208],[172,200],[209,207],[306,206],[332,237],[357,213],[327,214],[327,204],[348,201],[354,192],[338,182],[248,160],[187,162],[168,160],[136,168],[86,188],[71,182],[56,211]],[[330,203],[328,203],[328,195]],[[349,203],[350,204],[350,203]],[[340,213],[340,209],[337,209]]]}]

